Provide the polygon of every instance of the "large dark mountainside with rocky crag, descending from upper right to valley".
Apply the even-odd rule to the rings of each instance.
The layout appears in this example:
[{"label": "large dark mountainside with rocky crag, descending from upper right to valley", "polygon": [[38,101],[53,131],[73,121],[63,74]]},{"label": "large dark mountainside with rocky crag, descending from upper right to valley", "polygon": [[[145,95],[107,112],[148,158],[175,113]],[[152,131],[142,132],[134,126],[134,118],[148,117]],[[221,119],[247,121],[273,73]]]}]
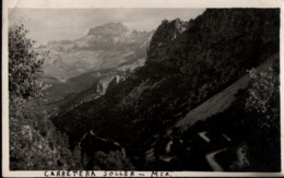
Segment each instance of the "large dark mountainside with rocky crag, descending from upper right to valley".
[{"label": "large dark mountainside with rocky crag, descending from upper right to valley", "polygon": [[150,138],[279,52],[279,31],[275,9],[209,9],[189,22],[163,21],[144,67],[55,123],[79,138],[94,129],[130,155],[142,153]]}]

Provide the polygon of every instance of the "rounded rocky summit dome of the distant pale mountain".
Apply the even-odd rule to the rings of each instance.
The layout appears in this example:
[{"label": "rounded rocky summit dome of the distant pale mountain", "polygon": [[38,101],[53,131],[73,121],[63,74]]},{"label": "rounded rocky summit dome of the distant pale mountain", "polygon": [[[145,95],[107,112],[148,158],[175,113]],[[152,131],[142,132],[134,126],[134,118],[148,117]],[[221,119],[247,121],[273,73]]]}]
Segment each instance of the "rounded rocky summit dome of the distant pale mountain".
[{"label": "rounded rocky summit dome of the distant pale mountain", "polygon": [[91,28],[87,35],[121,35],[128,32],[128,27],[121,23],[107,23],[102,26]]}]

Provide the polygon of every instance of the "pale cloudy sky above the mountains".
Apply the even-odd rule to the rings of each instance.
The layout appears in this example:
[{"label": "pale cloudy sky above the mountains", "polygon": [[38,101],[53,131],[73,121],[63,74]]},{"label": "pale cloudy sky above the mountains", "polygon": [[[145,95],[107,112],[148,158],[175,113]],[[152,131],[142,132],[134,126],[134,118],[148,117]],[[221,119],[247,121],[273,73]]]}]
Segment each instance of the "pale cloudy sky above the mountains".
[{"label": "pale cloudy sky above the mountains", "polygon": [[194,19],[204,9],[10,9],[9,25],[23,23],[28,37],[38,44],[78,39],[88,29],[109,22],[122,23],[130,29],[152,31],[163,20]]}]

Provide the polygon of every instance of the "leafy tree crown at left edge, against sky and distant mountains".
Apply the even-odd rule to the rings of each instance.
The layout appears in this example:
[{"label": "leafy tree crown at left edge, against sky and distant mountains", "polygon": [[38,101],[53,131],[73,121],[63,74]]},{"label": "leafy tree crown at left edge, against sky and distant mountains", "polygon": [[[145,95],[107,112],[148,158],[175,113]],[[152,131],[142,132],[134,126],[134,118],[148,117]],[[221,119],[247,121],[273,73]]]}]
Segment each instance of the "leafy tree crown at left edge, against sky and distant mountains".
[{"label": "leafy tree crown at left edge, against sky and distant mountains", "polygon": [[40,98],[48,87],[35,76],[42,72],[48,51],[36,52],[35,40],[27,38],[27,33],[23,24],[9,27],[9,102],[17,109],[31,98]]}]

